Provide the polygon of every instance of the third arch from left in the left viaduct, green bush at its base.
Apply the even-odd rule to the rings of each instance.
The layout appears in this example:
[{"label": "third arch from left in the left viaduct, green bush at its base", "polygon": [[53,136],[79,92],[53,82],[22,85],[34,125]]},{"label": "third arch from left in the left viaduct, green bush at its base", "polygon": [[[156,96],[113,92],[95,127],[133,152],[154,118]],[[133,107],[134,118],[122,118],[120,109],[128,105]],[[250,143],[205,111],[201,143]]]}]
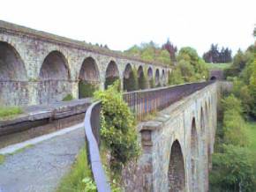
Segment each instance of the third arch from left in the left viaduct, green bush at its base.
[{"label": "third arch from left in the left viaduct, green bush at its base", "polygon": [[100,72],[92,57],[87,57],[79,71],[79,99],[92,97],[99,88]]}]

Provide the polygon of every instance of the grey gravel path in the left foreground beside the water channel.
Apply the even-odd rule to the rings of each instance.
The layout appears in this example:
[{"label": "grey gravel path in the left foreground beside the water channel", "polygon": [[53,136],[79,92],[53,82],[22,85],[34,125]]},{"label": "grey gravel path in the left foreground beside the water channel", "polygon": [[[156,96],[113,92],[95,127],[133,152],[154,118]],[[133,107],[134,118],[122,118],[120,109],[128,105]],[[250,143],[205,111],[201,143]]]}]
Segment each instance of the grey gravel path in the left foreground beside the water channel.
[{"label": "grey gravel path in the left foreground beside the water channel", "polygon": [[79,128],[5,157],[0,165],[0,192],[51,192],[85,144]]}]

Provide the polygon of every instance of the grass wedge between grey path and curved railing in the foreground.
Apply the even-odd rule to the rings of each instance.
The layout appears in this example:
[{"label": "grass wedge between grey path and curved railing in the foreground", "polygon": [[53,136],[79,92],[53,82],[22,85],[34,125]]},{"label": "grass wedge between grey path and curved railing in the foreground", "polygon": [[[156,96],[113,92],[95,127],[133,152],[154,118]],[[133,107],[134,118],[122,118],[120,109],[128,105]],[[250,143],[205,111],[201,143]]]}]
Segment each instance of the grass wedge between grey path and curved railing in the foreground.
[{"label": "grass wedge between grey path and curved railing in the foreground", "polygon": [[87,150],[83,147],[79,151],[79,155],[72,165],[71,171],[64,175],[59,183],[56,192],[79,192],[85,191],[85,183],[82,181],[84,178],[92,177],[91,169],[88,166]]}]

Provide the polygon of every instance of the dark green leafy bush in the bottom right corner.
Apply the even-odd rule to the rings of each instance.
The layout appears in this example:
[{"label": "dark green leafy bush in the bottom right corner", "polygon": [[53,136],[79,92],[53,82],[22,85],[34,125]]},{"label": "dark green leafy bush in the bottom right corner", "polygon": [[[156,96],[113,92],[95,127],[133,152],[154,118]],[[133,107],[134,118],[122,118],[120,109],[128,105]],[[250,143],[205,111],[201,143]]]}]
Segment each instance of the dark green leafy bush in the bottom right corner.
[{"label": "dark green leafy bush in the bottom right corner", "polygon": [[252,154],[244,147],[223,145],[222,153],[213,155],[210,174],[211,191],[253,191]]}]

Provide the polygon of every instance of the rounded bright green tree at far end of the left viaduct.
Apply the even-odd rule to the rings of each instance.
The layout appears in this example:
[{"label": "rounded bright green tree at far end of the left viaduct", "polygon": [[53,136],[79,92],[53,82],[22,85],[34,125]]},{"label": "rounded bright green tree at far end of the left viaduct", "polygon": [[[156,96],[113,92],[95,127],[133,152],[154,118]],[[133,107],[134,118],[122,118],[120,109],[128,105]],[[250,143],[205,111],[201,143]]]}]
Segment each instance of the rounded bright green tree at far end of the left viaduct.
[{"label": "rounded bright green tree at far end of the left viaduct", "polygon": [[169,76],[169,85],[206,80],[208,70],[206,63],[193,48],[181,48],[177,55],[177,65]]}]

